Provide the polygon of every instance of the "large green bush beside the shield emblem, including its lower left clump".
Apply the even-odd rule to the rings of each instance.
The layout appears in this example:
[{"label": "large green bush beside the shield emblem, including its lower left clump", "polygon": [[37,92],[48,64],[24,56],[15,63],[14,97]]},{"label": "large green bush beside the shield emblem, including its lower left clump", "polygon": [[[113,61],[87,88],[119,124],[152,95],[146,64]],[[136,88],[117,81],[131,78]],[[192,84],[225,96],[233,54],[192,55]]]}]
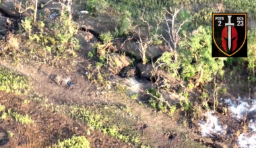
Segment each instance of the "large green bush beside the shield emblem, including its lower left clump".
[{"label": "large green bush beside the shield emblem, including its lower left clump", "polygon": [[[181,40],[178,52],[178,55],[164,52],[156,62],[172,77],[177,76],[181,68],[181,77],[187,80],[195,77],[202,69],[202,81],[211,81],[213,75],[223,74],[222,68],[226,58],[212,58],[212,32],[209,27],[200,26],[189,35],[189,38]],[[175,62],[170,60],[174,56],[177,57]],[[196,62],[192,64],[192,61]]]}]

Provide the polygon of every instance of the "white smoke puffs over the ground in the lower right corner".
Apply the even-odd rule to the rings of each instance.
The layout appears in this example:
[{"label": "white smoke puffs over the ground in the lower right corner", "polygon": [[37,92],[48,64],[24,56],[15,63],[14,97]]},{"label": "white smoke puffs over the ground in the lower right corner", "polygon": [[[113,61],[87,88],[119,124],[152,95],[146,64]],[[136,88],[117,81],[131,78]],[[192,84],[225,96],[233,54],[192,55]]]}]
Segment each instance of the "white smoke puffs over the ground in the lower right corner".
[{"label": "white smoke puffs over the ground in the lower right corner", "polygon": [[[223,100],[223,99],[221,99]],[[256,110],[256,101],[253,100],[253,104],[238,98],[236,101],[226,99],[224,102],[228,105],[228,108],[232,112],[232,117],[238,120],[245,120],[246,114],[254,113]],[[204,116],[207,121],[201,120],[199,126],[201,126],[201,135],[203,137],[212,137],[213,135],[222,135],[226,131],[227,127],[222,127],[218,122],[218,118],[214,116],[213,111],[205,113]],[[232,119],[230,119],[232,120]],[[228,126],[228,125],[227,125]],[[238,147],[241,148],[255,148],[256,147],[256,120],[251,119],[248,123],[247,133],[241,133],[238,136]]]}]

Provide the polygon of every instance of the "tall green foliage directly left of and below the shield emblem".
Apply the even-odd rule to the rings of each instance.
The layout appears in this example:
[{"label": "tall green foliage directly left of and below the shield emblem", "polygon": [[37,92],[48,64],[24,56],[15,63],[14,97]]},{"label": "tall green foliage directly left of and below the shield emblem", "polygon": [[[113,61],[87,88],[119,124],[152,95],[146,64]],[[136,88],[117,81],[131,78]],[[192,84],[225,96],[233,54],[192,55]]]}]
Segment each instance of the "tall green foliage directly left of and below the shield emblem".
[{"label": "tall green foliage directly left of and below the shield emblem", "polygon": [[[182,76],[185,79],[195,77],[203,69],[203,81],[211,81],[212,75],[222,71],[226,58],[212,58],[212,33],[210,28],[200,26],[190,39],[182,40],[180,46],[180,60],[183,67]],[[191,65],[195,59],[196,63]]]}]

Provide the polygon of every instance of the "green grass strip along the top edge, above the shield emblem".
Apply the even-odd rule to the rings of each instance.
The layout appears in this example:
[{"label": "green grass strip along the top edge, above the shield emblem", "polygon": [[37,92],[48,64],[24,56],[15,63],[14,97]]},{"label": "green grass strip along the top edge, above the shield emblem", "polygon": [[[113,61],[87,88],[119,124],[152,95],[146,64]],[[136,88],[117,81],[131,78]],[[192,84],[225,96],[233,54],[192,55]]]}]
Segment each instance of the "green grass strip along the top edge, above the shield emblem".
[{"label": "green grass strip along the top edge, above the shield emblem", "polygon": [[[150,24],[156,22],[156,15],[162,16],[162,8],[164,7],[179,7],[183,6],[187,11],[183,11],[179,17],[184,17],[185,13],[193,16],[195,20],[195,26],[202,24],[210,25],[212,12],[226,11],[232,12],[236,9],[237,12],[247,12],[249,18],[255,19],[255,1],[238,0],[234,3],[232,0],[226,0],[223,2],[222,7],[217,7],[217,4],[221,4],[221,1],[158,1],[158,0],[145,0],[145,1],[126,1],[126,0],[91,0],[86,2],[87,8],[91,14],[104,13],[104,10],[112,13],[125,12],[127,11],[131,15],[133,24],[140,24],[142,10],[148,12],[148,15],[144,15],[144,19],[148,20]],[[107,9],[111,7],[112,9]],[[120,15],[120,14],[119,14]]]}]

